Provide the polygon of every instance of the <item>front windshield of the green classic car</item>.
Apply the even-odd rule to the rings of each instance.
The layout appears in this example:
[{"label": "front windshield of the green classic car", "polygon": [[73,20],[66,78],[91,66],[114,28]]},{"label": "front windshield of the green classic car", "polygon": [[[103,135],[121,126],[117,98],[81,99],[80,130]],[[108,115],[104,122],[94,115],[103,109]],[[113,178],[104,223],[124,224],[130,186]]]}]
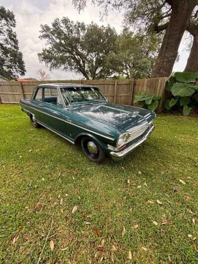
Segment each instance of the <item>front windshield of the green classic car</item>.
[{"label": "front windshield of the green classic car", "polygon": [[61,92],[65,103],[79,103],[90,101],[105,101],[102,93],[97,87],[64,87]]}]

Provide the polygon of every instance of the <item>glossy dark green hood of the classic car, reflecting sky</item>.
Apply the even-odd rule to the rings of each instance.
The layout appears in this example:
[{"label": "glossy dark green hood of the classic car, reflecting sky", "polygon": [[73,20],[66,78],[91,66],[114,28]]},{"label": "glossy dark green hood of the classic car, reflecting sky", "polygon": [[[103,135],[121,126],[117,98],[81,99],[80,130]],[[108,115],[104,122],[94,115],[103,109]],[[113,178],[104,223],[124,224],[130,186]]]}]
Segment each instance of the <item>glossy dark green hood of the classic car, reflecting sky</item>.
[{"label": "glossy dark green hood of the classic car, reflecting sky", "polygon": [[155,113],[147,109],[110,103],[83,105],[73,108],[73,111],[120,127],[125,131],[131,131],[139,125],[148,124],[155,117]]}]

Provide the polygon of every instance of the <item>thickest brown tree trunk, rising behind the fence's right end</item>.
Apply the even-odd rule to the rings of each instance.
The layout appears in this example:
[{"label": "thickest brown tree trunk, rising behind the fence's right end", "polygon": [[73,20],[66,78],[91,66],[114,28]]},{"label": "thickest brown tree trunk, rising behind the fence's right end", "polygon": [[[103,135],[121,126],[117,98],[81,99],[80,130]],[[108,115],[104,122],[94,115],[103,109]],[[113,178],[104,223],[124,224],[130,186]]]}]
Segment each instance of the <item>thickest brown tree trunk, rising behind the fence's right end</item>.
[{"label": "thickest brown tree trunk, rising behind the fence's right end", "polygon": [[194,0],[171,1],[170,23],[167,26],[151,77],[165,77],[171,74],[180,42],[189,25],[195,5]]}]

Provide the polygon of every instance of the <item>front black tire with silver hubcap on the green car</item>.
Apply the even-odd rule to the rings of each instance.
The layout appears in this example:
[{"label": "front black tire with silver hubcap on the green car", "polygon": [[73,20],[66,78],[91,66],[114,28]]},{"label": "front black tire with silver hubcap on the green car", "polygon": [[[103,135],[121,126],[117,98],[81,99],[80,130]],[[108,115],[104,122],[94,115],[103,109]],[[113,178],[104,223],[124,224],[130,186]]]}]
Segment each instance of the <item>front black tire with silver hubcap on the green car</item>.
[{"label": "front black tire with silver hubcap on the green car", "polygon": [[[90,148],[89,145],[94,146],[97,153],[91,153],[88,148]],[[97,149],[96,149],[97,148]],[[99,146],[99,144],[92,138],[89,137],[83,137],[81,139],[81,149],[85,156],[89,158],[91,161],[96,163],[102,163],[106,156],[102,150],[102,148]]]}]

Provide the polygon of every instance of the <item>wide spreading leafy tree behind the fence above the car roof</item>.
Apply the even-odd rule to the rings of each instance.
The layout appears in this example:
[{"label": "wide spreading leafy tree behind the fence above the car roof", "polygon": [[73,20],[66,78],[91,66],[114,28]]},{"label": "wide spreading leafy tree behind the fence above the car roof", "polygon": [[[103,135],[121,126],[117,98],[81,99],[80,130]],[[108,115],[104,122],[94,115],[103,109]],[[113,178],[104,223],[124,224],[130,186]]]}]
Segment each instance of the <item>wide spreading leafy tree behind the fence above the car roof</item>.
[{"label": "wide spreading leafy tree behind the fence above the car roof", "polygon": [[74,70],[86,79],[108,78],[119,71],[114,28],[95,23],[86,26],[67,17],[41,28],[40,38],[47,41],[47,48],[38,55],[50,69]]}]

